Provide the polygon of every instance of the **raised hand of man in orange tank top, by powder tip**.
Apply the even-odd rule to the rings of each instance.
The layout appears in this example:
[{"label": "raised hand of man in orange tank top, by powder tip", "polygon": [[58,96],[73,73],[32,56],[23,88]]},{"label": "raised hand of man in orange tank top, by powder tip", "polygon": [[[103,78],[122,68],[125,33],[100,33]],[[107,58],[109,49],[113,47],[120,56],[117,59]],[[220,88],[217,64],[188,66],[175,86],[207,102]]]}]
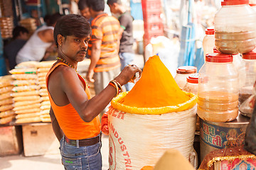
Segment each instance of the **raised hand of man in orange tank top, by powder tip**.
[{"label": "raised hand of man in orange tank top, by powder tip", "polygon": [[132,78],[134,78],[137,72],[139,72],[139,77],[141,77],[142,70],[134,64],[129,64],[124,67],[122,72],[114,79],[122,86],[124,84],[127,84]]}]

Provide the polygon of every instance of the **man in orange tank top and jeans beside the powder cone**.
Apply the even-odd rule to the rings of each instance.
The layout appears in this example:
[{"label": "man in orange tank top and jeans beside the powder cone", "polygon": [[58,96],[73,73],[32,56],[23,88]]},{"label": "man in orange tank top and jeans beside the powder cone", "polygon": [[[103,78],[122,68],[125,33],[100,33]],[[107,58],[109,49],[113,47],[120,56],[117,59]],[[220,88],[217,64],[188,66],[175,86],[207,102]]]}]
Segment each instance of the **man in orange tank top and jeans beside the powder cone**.
[{"label": "man in orange tank top and jeans beside the powder cone", "polygon": [[76,72],[85,59],[90,23],[75,14],[63,16],[54,28],[57,62],[46,76],[53,131],[60,141],[65,169],[102,169],[99,113],[132,79],[136,66],[127,66],[100,94],[91,98],[85,80]]}]

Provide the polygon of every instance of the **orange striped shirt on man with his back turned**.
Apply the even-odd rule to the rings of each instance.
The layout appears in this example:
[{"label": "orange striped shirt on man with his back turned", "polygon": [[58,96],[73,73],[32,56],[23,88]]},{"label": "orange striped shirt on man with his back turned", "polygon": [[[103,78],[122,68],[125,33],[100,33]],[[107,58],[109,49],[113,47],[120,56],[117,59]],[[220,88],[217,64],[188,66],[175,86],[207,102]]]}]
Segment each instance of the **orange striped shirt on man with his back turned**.
[{"label": "orange striped shirt on man with his back turned", "polygon": [[97,62],[94,72],[108,72],[120,67],[119,50],[119,21],[107,13],[100,14],[92,20],[92,35],[90,37],[88,55],[92,54],[92,43],[101,40],[100,60]]}]

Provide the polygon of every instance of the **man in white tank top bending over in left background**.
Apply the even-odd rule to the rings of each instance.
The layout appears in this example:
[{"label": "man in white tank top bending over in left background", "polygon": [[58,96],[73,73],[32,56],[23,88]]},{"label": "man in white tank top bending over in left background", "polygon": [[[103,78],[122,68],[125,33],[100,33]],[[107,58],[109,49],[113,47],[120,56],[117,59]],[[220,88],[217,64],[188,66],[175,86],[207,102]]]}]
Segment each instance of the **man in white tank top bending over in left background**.
[{"label": "man in white tank top bending over in left background", "polygon": [[28,61],[40,62],[46,60],[53,51],[53,29],[60,13],[54,13],[48,21],[47,26],[42,26],[31,35],[26,44],[19,50],[16,63]]}]

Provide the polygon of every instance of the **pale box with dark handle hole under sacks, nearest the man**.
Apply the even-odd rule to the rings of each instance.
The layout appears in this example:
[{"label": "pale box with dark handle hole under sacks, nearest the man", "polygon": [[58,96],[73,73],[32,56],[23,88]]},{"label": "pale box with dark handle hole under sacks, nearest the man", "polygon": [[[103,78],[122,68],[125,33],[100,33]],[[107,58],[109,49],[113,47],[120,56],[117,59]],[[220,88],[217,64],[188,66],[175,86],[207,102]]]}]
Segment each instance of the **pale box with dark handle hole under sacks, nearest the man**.
[{"label": "pale box with dark handle hole under sacks, nearest the man", "polygon": [[50,123],[22,125],[24,156],[59,154],[60,143]]}]

